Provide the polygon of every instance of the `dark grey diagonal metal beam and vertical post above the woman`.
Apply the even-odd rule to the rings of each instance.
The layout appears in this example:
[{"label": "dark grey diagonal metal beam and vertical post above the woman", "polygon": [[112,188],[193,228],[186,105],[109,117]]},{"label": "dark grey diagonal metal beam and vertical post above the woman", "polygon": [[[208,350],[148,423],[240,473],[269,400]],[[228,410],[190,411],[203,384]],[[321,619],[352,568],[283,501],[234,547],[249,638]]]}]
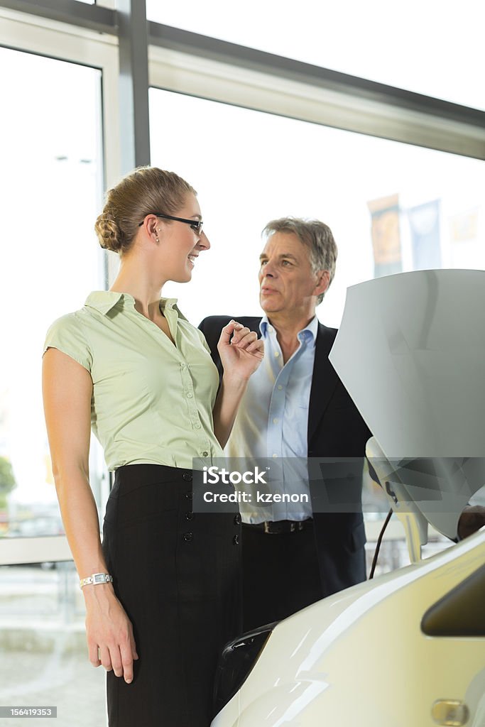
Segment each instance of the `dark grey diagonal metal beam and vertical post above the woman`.
[{"label": "dark grey diagonal metal beam and vertical post above the woman", "polygon": [[[146,164],[148,154],[148,41],[151,45],[172,49],[207,60],[232,65],[247,71],[257,71],[278,79],[297,81],[327,91],[350,95],[362,101],[377,102],[417,113],[441,121],[458,122],[485,127],[485,111],[450,103],[434,97],[417,94],[406,89],[387,86],[332,71],[310,63],[302,63],[288,57],[273,55],[254,48],[240,46],[181,28],[161,23],[147,23],[145,0],[116,0],[116,11],[97,5],[87,5],[77,0],[0,0],[0,7],[7,7],[31,15],[49,17],[63,23],[71,23],[104,33],[119,33],[120,61],[123,73],[122,95],[135,99],[135,156],[140,164]],[[123,47],[121,47],[123,46]],[[140,105],[139,105],[140,104]],[[128,110],[122,102],[122,113]],[[138,132],[138,129],[144,131]],[[145,137],[145,138],[144,138]],[[129,166],[129,165],[128,165]],[[133,166],[133,165],[131,165]],[[125,169],[126,171],[126,169]]]}]

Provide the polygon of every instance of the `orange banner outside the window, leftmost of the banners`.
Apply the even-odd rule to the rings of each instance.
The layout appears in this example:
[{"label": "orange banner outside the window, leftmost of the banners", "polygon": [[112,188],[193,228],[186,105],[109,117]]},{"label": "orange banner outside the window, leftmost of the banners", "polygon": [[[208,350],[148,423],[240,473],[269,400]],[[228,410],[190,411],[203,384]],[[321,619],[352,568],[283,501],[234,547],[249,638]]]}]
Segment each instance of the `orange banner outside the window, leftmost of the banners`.
[{"label": "orange banner outside the window, leftmost of the banners", "polygon": [[367,202],[371,213],[374,278],[401,273],[401,236],[399,233],[399,196],[381,197]]}]

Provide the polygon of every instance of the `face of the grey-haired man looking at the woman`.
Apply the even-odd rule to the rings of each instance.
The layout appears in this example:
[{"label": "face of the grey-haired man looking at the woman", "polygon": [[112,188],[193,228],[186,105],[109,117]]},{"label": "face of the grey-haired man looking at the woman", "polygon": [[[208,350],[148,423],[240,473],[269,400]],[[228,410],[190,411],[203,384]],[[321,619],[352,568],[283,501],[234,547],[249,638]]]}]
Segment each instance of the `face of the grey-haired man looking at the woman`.
[{"label": "face of the grey-haired man looking at the woman", "polygon": [[259,280],[260,305],[268,315],[313,315],[316,296],[328,286],[328,273],[313,273],[310,251],[294,233],[276,232],[260,255]]}]

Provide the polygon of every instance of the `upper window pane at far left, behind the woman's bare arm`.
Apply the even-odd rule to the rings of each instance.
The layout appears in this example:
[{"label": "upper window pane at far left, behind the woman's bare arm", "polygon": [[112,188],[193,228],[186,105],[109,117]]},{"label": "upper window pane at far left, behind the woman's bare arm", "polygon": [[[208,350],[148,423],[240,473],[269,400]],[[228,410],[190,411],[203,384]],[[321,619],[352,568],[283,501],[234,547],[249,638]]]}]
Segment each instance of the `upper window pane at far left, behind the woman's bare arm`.
[{"label": "upper window pane at far left, behind the woman's bare arm", "polygon": [[[104,286],[93,233],[103,159],[101,74],[0,49],[0,517],[7,536],[62,532],[41,401],[47,327]],[[92,482],[101,471],[92,448]]]}]

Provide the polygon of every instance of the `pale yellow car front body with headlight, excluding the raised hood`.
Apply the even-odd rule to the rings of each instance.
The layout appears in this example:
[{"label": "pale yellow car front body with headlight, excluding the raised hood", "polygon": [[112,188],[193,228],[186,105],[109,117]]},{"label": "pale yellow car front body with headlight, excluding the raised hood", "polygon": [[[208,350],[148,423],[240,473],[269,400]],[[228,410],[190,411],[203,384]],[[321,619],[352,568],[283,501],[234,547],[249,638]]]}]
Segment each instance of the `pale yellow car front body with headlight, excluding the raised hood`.
[{"label": "pale yellow car front body with headlight, excluding the raised hood", "polygon": [[225,648],[212,727],[485,726],[485,530]]}]

